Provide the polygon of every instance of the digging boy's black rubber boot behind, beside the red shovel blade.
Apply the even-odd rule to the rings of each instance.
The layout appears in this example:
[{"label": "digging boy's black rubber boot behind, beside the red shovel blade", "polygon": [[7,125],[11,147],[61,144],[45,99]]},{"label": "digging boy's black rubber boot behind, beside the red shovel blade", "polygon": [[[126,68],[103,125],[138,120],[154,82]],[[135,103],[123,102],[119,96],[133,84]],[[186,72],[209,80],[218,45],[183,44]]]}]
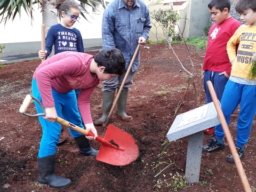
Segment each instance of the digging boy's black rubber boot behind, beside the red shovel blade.
[{"label": "digging boy's black rubber boot behind, beside the red shovel blade", "polygon": [[74,138],[76,141],[77,146],[79,147],[79,152],[86,156],[97,156],[99,153],[99,150],[95,150],[91,147],[89,140],[84,136],[80,136],[77,138]]}]

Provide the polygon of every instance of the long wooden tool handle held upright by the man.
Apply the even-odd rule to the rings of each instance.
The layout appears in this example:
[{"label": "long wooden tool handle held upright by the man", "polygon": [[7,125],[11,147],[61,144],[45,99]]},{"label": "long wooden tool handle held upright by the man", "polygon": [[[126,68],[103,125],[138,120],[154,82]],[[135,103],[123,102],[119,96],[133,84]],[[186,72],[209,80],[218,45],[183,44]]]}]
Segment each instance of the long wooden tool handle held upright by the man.
[{"label": "long wooden tool handle held upright by the man", "polygon": [[135,52],[134,52],[134,54],[133,54],[131,63],[130,63],[130,65],[129,65],[127,71],[126,71],[125,76],[124,76],[124,79],[123,79],[123,82],[122,82],[122,84],[121,84],[121,86],[120,86],[120,89],[119,89],[119,91],[118,91],[118,93],[117,93],[117,95],[116,95],[116,99],[115,99],[115,101],[114,101],[114,103],[113,103],[113,106],[111,107],[110,112],[109,112],[109,114],[108,114],[108,117],[107,117],[105,123],[103,124],[103,127],[104,127],[104,128],[108,125],[109,119],[110,119],[111,115],[113,114],[114,108],[115,108],[116,103],[117,103],[117,101],[118,101],[118,99],[119,99],[119,96],[120,96],[120,94],[121,94],[121,92],[122,92],[122,90],[123,90],[125,81],[126,81],[128,75],[129,75],[129,73],[130,73],[130,70],[131,70],[131,68],[132,68],[133,62],[134,62],[134,60],[135,60],[135,58],[136,58],[136,56],[137,56],[137,53],[138,53],[139,49],[140,49],[140,45],[138,44],[138,46],[137,46],[137,48],[136,48],[136,50],[135,50]]}]

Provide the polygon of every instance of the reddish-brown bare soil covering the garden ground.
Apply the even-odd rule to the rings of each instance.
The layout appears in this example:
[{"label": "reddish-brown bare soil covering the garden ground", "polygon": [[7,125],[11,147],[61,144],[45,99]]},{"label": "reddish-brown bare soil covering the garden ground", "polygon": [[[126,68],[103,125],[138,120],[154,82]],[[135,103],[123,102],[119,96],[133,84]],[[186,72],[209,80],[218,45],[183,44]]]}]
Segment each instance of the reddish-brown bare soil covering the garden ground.
[{"label": "reddish-brown bare soil covering the garden ground", "polygon": [[[165,49],[164,44],[149,47],[141,48],[140,67],[129,91],[126,112],[133,117],[132,121],[122,122],[114,110],[109,123],[132,135],[139,147],[139,157],[129,165],[114,166],[97,161],[95,157],[83,156],[68,129],[62,127],[55,174],[69,178],[71,185],[61,190],[38,182],[36,158],[42,127],[37,117],[18,112],[26,94],[31,94],[32,76],[41,60],[5,65],[0,70],[0,191],[244,191],[235,164],[226,162],[230,153],[228,146],[217,153],[203,153],[199,183],[185,183],[188,139],[169,143],[166,134],[175,116],[200,105],[197,105],[191,85],[182,100],[187,75],[172,51]],[[173,48],[185,68],[192,71],[186,46],[174,44]],[[203,63],[204,51],[191,46],[190,51],[199,90],[199,64]],[[91,98],[93,120],[102,115],[101,88],[102,84]],[[175,114],[179,102],[181,106]],[[205,105],[203,87],[201,105]],[[238,111],[231,116],[229,127],[234,140]],[[29,106],[28,113],[36,113],[34,103]],[[96,129],[104,137],[106,129],[102,126],[96,126]],[[205,135],[204,145],[211,137]],[[101,146],[97,141],[91,141],[91,145],[95,149]],[[256,187],[254,145],[255,122],[242,160],[253,191]]]}]

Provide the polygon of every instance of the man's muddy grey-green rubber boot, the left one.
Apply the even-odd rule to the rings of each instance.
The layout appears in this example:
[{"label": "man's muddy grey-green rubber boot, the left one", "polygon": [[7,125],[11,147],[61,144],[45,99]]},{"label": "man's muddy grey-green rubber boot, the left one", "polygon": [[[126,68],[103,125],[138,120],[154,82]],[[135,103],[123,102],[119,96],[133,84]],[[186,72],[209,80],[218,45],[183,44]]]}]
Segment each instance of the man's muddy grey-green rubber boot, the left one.
[{"label": "man's muddy grey-green rubber boot, the left one", "polygon": [[113,105],[115,93],[108,93],[108,92],[103,92],[103,114],[102,116],[94,121],[94,125],[102,125],[105,123],[109,111],[111,110],[111,107]]}]

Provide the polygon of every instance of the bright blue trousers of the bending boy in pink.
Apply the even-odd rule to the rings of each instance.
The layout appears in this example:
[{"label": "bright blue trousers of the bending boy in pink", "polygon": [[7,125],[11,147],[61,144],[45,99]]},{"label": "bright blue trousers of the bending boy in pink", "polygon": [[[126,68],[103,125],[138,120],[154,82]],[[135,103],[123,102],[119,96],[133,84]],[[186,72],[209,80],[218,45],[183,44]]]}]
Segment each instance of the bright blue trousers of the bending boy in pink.
[{"label": "bright blue trousers of the bending boy in pink", "polygon": [[[33,78],[32,81],[33,96],[42,102],[41,95],[38,91],[37,83]],[[61,94],[52,89],[52,95],[55,103],[55,109],[59,117],[62,116],[70,123],[73,123],[83,128],[82,118],[79,115],[75,91]],[[43,113],[39,104],[35,101],[37,113]],[[42,116],[39,116],[39,122],[43,128],[43,135],[40,143],[38,158],[54,155],[57,145],[60,142],[59,136],[61,132],[61,125],[57,122],[51,123],[46,121]],[[73,138],[79,137],[82,134],[69,129]]]}]

